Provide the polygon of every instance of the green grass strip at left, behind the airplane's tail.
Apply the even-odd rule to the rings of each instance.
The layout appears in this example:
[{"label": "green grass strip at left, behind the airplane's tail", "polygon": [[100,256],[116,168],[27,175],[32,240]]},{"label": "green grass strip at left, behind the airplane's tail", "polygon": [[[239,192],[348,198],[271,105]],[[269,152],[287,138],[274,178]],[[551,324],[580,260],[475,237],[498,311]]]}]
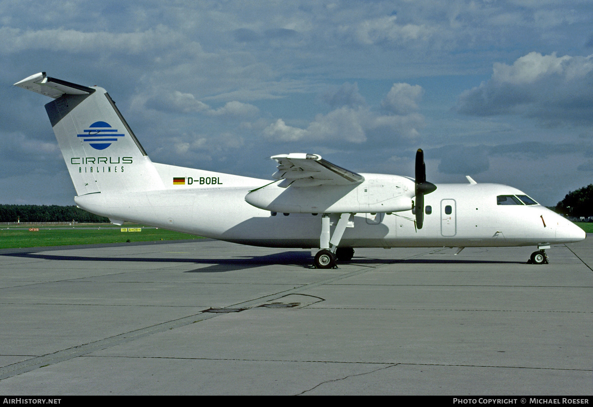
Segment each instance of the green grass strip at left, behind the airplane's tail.
[{"label": "green grass strip at left, behind the airplane's tail", "polygon": [[172,232],[164,229],[144,228],[142,225],[123,225],[123,228],[142,228],[141,232],[122,232],[112,224],[92,225],[50,225],[29,227],[0,227],[0,249],[15,247],[69,246],[72,244],[125,243],[130,241],[157,241],[202,239],[192,234]]}]

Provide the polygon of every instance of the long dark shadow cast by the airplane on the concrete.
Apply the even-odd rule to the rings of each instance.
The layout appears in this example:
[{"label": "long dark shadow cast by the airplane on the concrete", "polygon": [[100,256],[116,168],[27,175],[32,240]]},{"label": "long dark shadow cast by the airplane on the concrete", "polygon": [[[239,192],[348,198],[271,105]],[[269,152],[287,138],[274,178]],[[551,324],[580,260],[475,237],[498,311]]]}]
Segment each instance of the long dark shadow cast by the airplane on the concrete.
[{"label": "long dark shadow cast by the airplane on the concrete", "polygon": [[[196,258],[178,258],[178,257],[93,257],[93,256],[68,256],[52,255],[50,253],[3,253],[0,256],[24,257],[28,259],[44,260],[66,260],[66,261],[87,261],[87,262],[162,262],[162,263],[193,263],[203,264],[205,267],[185,271],[186,273],[208,273],[208,272],[227,272],[242,269],[251,269],[261,266],[297,266],[299,268],[312,268],[313,256],[308,251],[287,251],[281,253],[272,253],[263,256],[237,256],[227,259],[196,259]],[[377,259],[373,257],[353,257],[348,262],[338,262],[340,265],[382,265],[382,264],[524,264],[516,260],[471,260],[471,259]]]}]

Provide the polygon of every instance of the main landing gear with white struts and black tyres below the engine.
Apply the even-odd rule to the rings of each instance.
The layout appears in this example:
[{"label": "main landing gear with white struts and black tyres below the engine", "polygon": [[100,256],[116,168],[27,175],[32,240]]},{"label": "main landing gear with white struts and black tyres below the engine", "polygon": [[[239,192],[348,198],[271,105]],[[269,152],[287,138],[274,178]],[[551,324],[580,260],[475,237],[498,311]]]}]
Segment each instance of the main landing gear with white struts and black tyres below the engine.
[{"label": "main landing gear with white struts and black tyres below the engine", "polygon": [[321,236],[319,247],[321,250],[315,255],[315,268],[331,269],[336,267],[336,260],[349,261],[354,256],[352,247],[337,247],[342,240],[348,222],[353,214],[340,214],[333,236],[330,239],[330,215],[323,214],[321,217]]}]

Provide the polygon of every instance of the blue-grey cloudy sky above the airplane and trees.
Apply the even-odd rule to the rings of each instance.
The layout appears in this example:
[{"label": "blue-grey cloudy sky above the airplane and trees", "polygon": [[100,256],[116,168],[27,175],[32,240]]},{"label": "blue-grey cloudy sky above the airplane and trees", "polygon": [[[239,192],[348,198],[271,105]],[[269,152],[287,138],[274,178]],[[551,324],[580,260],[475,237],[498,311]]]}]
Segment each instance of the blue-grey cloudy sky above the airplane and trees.
[{"label": "blue-grey cloudy sky above the airplane and trees", "polygon": [[0,0],[0,203],[74,204],[50,99],[12,86],[41,71],[106,88],[158,163],[413,176],[423,148],[433,183],[593,183],[590,0]]}]

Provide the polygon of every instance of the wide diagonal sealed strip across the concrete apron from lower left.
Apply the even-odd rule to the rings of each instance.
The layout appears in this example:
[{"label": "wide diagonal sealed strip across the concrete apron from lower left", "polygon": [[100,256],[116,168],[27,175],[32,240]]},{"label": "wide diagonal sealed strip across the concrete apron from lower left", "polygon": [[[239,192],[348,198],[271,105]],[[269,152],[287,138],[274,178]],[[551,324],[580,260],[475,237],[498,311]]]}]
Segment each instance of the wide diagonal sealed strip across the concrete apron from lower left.
[{"label": "wide diagonal sealed strip across the concrete apron from lower left", "polygon": [[[419,253],[416,255],[412,255],[406,258],[416,257],[425,255],[425,253]],[[260,304],[266,303],[271,300],[275,300],[280,297],[284,297],[288,294],[293,294],[298,291],[307,290],[308,288],[318,287],[319,285],[329,284],[333,281],[338,281],[340,279],[349,278],[351,276],[356,276],[360,274],[364,274],[365,272],[374,270],[376,268],[380,268],[382,266],[386,266],[389,263],[379,264],[377,266],[364,266],[361,269],[342,274],[339,276],[332,276],[330,278],[326,278],[317,282],[313,282],[311,284],[301,285],[299,287],[292,288],[291,290],[284,290],[280,292],[276,292],[275,294],[264,295],[263,297],[254,298],[253,300],[243,301],[242,303],[234,304],[228,307],[224,307],[224,309],[230,308],[246,308],[250,309],[256,307]],[[195,322],[200,322],[206,319],[211,319],[215,316],[226,314],[226,313],[206,313],[200,312],[197,314],[193,314],[187,317],[183,317],[177,320],[164,322],[158,325],[153,325],[145,328],[141,328],[138,330],[133,330],[130,332],[122,333],[120,335],[111,336],[110,338],[100,339],[99,341],[90,342],[84,345],[74,346],[72,348],[63,349],[61,351],[54,352],[52,354],[42,355],[39,357],[34,357],[25,361],[21,361],[18,363],[10,364],[4,367],[0,367],[0,380],[7,379],[8,377],[17,376],[18,374],[26,373],[31,370],[35,370],[36,368],[46,367],[47,365],[60,363],[63,361],[71,360],[76,357],[80,357],[82,355],[90,354],[91,352],[100,351],[103,349],[111,348],[112,346],[117,346],[120,344],[124,344],[126,342],[135,341],[136,339],[143,338],[144,336],[152,335],[154,333],[165,332],[170,329],[190,325]]]}]

